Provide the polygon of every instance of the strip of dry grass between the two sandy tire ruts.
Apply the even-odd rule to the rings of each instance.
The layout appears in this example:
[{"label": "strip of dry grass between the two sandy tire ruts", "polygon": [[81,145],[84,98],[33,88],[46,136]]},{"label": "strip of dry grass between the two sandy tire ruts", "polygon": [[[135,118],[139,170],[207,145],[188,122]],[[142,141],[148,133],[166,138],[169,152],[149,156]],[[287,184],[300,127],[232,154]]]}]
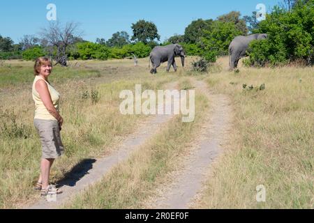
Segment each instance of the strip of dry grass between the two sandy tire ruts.
[{"label": "strip of dry grass between the two sandy tire ruts", "polygon": [[[191,85],[185,79],[179,85],[183,89]],[[204,95],[196,98],[197,116],[193,123],[182,123],[174,118],[160,134],[137,149],[130,158],[62,208],[143,208],[156,186],[165,182],[165,176],[177,169],[180,157],[186,155],[190,139],[196,137],[202,125],[208,101]]]}]

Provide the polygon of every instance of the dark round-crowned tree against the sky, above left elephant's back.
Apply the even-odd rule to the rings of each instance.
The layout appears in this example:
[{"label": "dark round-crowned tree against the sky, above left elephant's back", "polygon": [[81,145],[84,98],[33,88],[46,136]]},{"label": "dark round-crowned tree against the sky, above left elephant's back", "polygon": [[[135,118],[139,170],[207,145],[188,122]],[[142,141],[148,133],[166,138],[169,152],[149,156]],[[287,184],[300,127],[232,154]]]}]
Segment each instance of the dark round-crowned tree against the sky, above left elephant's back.
[{"label": "dark round-crowned tree against the sky, above left elephant's back", "polygon": [[132,24],[131,29],[133,30],[133,36],[131,38],[133,41],[147,44],[155,39],[160,40],[157,26],[153,22],[140,20]]}]

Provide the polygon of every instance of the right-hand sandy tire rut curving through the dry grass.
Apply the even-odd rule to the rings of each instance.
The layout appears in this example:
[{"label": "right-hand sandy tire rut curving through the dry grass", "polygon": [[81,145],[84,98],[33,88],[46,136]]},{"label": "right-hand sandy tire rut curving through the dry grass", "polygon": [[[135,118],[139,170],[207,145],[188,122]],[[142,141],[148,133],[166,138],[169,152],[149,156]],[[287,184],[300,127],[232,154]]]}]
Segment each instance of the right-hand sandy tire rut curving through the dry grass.
[{"label": "right-hand sandy tire rut curving through the dry grass", "polygon": [[[214,94],[203,81],[191,79],[196,91],[202,91],[209,99],[209,112],[197,138],[192,142],[189,154],[181,160],[179,170],[167,177],[167,185],[157,188],[157,196],[144,201],[145,208],[188,209],[202,190],[208,178],[211,164],[222,152],[227,142],[232,122],[232,107],[226,95]],[[196,111],[197,112],[197,111]]]}]

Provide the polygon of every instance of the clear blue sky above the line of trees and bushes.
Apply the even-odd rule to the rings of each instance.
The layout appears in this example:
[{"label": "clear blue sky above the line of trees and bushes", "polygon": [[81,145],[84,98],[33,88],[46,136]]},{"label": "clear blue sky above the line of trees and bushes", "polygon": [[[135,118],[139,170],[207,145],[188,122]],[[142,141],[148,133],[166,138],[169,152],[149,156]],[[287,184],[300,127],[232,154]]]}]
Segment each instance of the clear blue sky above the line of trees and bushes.
[{"label": "clear blue sky above the line of trees and bushes", "polygon": [[127,31],[131,36],[131,24],[141,19],[154,22],[163,41],[174,33],[183,34],[192,20],[215,19],[232,10],[251,15],[258,3],[264,3],[269,10],[279,1],[9,0],[0,5],[0,35],[9,36],[18,43],[24,35],[38,34],[40,28],[48,24],[48,3],[57,6],[57,20],[79,22],[83,38],[95,42],[98,37],[107,40],[117,31]]}]

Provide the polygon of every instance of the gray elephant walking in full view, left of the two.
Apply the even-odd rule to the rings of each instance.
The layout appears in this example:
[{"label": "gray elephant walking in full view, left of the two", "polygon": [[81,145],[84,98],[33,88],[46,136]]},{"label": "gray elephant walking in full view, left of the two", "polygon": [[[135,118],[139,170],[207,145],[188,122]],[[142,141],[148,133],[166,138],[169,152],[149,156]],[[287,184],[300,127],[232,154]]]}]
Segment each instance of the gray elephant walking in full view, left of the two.
[{"label": "gray elephant walking in full view, left of the two", "polygon": [[171,44],[165,47],[154,47],[149,54],[149,68],[152,64],[153,68],[151,69],[151,74],[156,74],[157,68],[161,63],[168,62],[167,72],[169,72],[170,67],[173,66],[174,71],[177,71],[177,64],[174,58],[176,56],[181,57],[181,63],[184,67],[184,59],[186,57],[186,53],[184,52],[184,48],[179,44]]}]

